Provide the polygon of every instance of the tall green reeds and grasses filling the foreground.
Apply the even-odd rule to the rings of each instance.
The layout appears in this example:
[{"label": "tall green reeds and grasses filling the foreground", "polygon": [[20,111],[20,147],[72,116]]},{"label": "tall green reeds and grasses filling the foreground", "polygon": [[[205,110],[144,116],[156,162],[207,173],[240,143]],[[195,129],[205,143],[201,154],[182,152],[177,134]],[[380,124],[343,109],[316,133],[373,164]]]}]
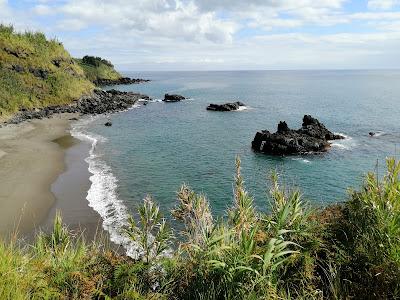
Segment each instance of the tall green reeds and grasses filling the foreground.
[{"label": "tall green reeds and grasses filling the foreground", "polygon": [[131,259],[62,225],[31,246],[0,243],[0,299],[397,299],[400,163],[368,174],[343,205],[315,210],[271,176],[269,213],[246,192],[236,161],[233,203],[215,219],[188,186],[172,211],[176,239],[147,197],[124,234]]}]

